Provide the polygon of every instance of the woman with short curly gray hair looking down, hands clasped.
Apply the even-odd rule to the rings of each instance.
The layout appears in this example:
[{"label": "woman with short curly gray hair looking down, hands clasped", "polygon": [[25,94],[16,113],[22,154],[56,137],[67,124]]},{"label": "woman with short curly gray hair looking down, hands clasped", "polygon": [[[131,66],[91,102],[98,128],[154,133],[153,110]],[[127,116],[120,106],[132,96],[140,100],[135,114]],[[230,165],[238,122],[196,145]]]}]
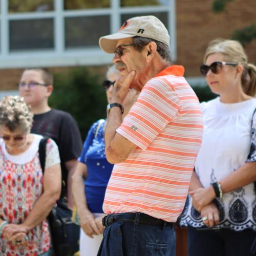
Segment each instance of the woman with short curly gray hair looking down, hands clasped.
[{"label": "woman with short curly gray hair looking down, hands clasped", "polygon": [[59,153],[49,139],[43,177],[32,122],[23,98],[0,101],[0,255],[52,255],[46,217],[60,195]]}]

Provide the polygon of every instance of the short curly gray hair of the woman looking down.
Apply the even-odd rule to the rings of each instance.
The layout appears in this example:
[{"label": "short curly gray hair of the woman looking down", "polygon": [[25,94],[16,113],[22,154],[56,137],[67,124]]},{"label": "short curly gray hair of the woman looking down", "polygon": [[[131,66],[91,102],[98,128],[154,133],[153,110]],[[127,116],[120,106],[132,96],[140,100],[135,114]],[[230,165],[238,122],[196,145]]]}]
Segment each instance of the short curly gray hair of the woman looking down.
[{"label": "short curly gray hair of the woman looking down", "polygon": [[24,98],[6,96],[0,101],[0,126],[7,127],[11,132],[20,129],[30,132],[33,123],[33,113]]}]

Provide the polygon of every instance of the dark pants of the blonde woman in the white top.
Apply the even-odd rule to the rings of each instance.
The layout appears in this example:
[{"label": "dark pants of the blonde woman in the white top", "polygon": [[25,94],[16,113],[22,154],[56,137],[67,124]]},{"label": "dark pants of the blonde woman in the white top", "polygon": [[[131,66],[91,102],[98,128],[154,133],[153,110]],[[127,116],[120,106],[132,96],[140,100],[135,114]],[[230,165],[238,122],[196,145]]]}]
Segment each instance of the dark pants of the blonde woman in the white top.
[{"label": "dark pants of the blonde woman in the white top", "polygon": [[197,231],[196,228],[188,227],[188,255],[252,256],[256,255],[256,251],[250,252],[253,250],[254,239],[256,232],[252,229]]}]

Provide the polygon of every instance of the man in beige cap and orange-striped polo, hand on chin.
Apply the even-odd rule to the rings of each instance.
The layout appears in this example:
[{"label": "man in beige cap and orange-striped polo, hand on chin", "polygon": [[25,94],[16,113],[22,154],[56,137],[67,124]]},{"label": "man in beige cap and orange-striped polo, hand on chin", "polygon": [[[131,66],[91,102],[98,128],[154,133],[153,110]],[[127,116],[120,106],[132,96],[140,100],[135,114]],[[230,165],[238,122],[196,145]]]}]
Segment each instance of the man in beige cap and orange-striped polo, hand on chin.
[{"label": "man in beige cap and orange-striped polo, hand on chin", "polygon": [[[131,18],[99,44],[115,54],[121,79],[105,127],[106,157],[115,166],[98,255],[175,255],[173,223],[184,207],[202,140],[198,98],[184,68],[172,65],[168,32],[155,16]],[[130,88],[141,92],[122,121]]]}]

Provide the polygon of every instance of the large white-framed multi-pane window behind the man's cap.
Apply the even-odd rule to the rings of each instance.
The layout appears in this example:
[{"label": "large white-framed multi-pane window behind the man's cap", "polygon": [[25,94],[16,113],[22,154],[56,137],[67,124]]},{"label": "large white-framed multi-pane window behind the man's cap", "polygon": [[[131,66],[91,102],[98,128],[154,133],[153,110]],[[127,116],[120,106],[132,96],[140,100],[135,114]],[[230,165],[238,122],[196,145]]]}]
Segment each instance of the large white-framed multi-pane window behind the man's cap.
[{"label": "large white-framed multi-pane window behind the man's cap", "polygon": [[109,64],[99,37],[140,15],[162,20],[175,59],[175,0],[1,0],[0,68]]}]

